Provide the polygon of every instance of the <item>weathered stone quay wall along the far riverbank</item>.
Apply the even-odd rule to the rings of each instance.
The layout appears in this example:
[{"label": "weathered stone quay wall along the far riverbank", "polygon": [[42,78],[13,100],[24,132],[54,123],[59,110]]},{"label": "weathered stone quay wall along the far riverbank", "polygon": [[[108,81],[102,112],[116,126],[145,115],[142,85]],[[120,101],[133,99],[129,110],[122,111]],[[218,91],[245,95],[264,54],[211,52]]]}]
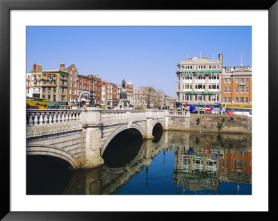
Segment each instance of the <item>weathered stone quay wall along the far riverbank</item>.
[{"label": "weathered stone quay wall along the far riverbank", "polygon": [[[197,119],[199,118],[199,123]],[[224,127],[218,129],[218,123],[225,118]],[[233,118],[233,120],[231,119]],[[252,133],[252,117],[239,115],[190,114],[190,116],[169,116],[169,130],[187,130],[202,132],[227,132],[238,134]]]}]

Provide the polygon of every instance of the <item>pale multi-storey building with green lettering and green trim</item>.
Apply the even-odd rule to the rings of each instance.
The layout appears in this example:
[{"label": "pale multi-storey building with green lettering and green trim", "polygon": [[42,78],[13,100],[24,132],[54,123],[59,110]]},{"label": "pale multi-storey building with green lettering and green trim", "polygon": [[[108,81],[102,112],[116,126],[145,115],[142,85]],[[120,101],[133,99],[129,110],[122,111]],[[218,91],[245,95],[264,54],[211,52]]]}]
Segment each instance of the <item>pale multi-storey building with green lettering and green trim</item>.
[{"label": "pale multi-storey building with green lettering and green trim", "polygon": [[219,60],[187,58],[177,64],[177,101],[188,105],[221,102],[223,55]]}]

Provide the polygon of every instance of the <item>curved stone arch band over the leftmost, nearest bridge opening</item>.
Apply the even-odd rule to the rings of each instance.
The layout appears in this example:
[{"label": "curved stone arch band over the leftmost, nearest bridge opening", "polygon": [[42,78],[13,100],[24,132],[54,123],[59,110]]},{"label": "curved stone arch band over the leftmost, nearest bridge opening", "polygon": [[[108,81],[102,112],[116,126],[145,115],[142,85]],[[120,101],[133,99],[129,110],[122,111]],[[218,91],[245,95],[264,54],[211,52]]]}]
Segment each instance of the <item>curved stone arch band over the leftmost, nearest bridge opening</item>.
[{"label": "curved stone arch band over the leftmost, nearest bridge opening", "polygon": [[26,154],[58,157],[70,163],[74,169],[79,168],[79,162],[72,156],[72,154],[60,148],[47,145],[27,145]]}]

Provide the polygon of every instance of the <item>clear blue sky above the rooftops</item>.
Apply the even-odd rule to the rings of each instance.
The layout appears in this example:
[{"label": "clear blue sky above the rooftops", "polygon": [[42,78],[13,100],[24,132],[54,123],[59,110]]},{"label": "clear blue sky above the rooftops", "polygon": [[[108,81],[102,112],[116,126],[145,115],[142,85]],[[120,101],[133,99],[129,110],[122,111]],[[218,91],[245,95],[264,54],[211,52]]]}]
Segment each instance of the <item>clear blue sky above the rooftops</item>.
[{"label": "clear blue sky above the rooftops", "polygon": [[199,57],[224,66],[252,66],[251,26],[28,26],[26,71],[75,64],[79,74],[99,74],[117,85],[151,86],[176,93],[177,62]]}]

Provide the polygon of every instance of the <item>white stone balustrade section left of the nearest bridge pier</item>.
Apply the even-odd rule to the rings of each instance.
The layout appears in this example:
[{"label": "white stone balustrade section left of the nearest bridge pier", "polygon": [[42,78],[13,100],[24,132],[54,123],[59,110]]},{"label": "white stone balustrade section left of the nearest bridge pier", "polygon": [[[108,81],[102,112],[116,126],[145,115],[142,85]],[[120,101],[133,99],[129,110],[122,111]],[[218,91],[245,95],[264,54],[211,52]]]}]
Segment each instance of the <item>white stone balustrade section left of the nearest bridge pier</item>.
[{"label": "white stone balustrade section left of the nearest bridge pier", "polygon": [[81,121],[81,109],[27,109],[26,126],[56,125]]}]

